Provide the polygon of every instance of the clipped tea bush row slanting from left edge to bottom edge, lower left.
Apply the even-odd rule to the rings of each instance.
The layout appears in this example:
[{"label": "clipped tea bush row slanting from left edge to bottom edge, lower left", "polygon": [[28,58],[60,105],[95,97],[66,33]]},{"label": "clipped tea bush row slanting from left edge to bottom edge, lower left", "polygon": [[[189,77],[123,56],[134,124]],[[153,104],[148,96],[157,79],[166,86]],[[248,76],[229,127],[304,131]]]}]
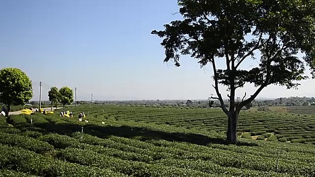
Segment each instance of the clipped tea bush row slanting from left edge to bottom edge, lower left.
[{"label": "clipped tea bush row slanting from left edge to bottom edge, lower left", "polygon": [[42,177],[126,177],[109,169],[87,167],[0,145],[0,167]]}]

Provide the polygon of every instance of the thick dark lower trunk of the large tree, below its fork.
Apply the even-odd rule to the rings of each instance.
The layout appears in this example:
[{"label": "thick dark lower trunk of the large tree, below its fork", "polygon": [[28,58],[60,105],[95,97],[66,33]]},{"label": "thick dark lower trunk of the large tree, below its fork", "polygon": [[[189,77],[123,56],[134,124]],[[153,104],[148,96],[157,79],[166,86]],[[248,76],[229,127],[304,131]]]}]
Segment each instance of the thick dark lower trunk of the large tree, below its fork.
[{"label": "thick dark lower trunk of the large tree, below its fork", "polygon": [[228,144],[237,145],[236,131],[239,111],[234,111],[228,117],[226,141]]}]

